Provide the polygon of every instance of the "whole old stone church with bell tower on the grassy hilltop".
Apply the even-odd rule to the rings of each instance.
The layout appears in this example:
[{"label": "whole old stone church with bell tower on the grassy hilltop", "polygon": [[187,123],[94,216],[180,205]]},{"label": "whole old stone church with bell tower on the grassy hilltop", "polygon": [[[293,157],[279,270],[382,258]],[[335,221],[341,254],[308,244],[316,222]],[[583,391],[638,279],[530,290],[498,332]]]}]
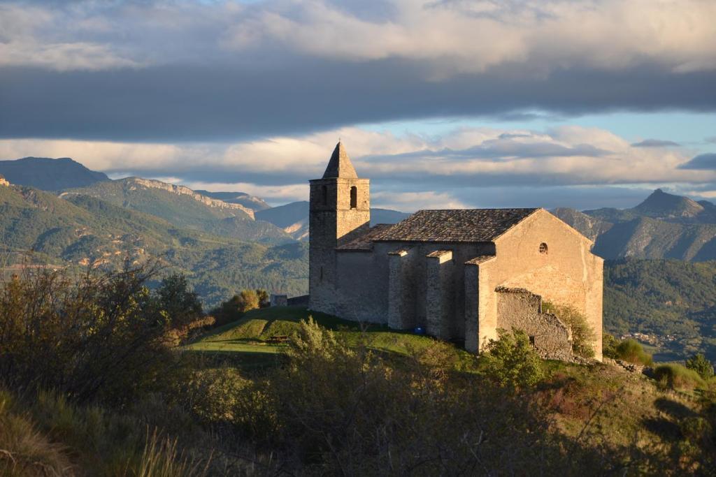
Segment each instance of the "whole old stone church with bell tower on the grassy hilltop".
[{"label": "whole old stone church with bell tower on the grassy hilltop", "polygon": [[370,183],[341,142],[311,180],[309,308],[464,343],[521,328],[547,358],[571,331],[542,300],[586,316],[601,360],[602,266],[591,240],[544,209],[420,210],[370,227]]}]

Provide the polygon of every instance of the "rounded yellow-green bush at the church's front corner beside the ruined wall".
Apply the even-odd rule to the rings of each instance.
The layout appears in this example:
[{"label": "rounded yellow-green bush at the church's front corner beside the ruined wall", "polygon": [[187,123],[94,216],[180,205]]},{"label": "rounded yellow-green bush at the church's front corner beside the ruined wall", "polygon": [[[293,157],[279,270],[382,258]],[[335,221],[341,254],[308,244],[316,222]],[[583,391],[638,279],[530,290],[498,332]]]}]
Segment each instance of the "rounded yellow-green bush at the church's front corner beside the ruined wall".
[{"label": "rounded yellow-green bush at the church's front corner beside the ruined wall", "polygon": [[498,385],[526,388],[545,376],[542,361],[522,330],[498,330],[498,340],[490,340],[483,357],[485,374]]}]

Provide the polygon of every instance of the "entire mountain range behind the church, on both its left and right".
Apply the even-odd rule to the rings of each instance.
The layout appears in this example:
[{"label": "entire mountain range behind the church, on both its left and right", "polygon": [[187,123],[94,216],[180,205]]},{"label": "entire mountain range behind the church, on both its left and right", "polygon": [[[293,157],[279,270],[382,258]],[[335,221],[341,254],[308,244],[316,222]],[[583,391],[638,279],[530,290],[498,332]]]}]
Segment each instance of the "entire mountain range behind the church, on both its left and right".
[{"label": "entire mountain range behind the church, on both its left and right", "polygon": [[[307,292],[308,202],[270,207],[242,192],[110,180],[72,159],[0,165],[0,280],[12,272],[8,263],[79,273],[155,259],[185,273],[208,308],[246,287]],[[646,333],[655,352],[675,359],[696,351],[716,358],[716,262],[682,261],[716,258],[715,210],[711,202],[656,190],[629,209],[552,212],[608,259],[605,330]],[[372,223],[407,217],[371,212]],[[681,260],[637,260],[664,258]]]}]

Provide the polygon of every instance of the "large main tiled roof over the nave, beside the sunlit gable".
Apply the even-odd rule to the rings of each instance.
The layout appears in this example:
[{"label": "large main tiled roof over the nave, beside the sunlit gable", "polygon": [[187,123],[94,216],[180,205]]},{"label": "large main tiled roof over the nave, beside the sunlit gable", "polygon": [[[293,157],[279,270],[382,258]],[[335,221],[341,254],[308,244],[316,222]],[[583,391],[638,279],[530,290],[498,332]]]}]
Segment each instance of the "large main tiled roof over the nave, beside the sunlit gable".
[{"label": "large main tiled roof over the nave, beside the sunlit gable", "polygon": [[384,242],[491,242],[537,209],[419,210],[372,240]]}]

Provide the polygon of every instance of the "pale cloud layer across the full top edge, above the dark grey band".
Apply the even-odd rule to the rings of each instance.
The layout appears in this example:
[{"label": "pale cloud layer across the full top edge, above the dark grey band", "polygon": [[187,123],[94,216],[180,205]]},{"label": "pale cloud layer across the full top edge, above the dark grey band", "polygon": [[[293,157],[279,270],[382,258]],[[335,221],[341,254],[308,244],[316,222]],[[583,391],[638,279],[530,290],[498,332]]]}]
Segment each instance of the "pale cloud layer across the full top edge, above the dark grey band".
[{"label": "pale cloud layer across the full top edge, above the dark grey band", "polygon": [[714,18],[710,0],[8,3],[0,4],[0,65],[256,67],[298,55],[408,59],[435,79],[504,64],[538,76],[644,62],[692,72],[716,68]]}]

